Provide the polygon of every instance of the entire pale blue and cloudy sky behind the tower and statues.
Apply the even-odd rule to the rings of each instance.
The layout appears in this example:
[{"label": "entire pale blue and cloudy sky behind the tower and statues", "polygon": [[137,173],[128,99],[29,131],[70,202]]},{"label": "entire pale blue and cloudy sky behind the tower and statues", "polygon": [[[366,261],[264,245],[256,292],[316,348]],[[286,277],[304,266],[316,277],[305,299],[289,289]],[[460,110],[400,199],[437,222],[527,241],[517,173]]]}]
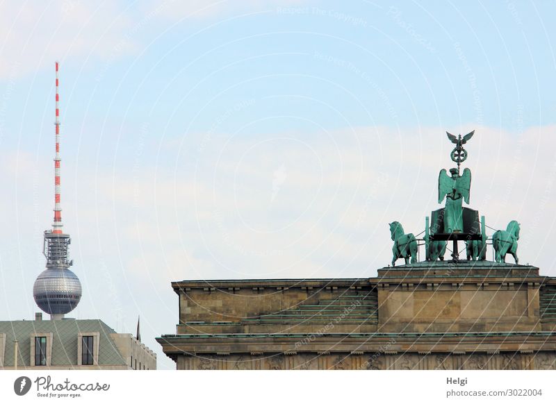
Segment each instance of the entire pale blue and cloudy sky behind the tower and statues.
[{"label": "entire pale blue and cloudy sky behind the tower and statues", "polygon": [[553,1],[3,1],[0,319],[38,311],[56,60],[83,285],[70,315],[125,333],[140,316],[159,369],[174,369],[154,340],[175,333],[173,280],[375,276],[389,222],[418,234],[441,208],[445,131],[475,130],[469,207],[491,228],[518,220],[520,263],[556,276],[553,15]]}]

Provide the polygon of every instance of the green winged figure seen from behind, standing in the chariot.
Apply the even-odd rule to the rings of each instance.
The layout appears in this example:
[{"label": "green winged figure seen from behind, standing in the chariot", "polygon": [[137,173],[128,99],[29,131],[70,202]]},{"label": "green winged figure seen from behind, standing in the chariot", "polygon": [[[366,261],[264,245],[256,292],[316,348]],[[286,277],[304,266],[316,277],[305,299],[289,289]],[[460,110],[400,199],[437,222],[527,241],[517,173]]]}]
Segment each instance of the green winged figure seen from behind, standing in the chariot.
[{"label": "green winged figure seen from behind, standing in the chariot", "polygon": [[446,198],[444,208],[444,233],[461,233],[464,230],[463,201],[469,203],[471,190],[471,170],[464,169],[464,174],[459,176],[459,169],[450,169],[446,174],[441,169],[439,174],[439,203]]}]

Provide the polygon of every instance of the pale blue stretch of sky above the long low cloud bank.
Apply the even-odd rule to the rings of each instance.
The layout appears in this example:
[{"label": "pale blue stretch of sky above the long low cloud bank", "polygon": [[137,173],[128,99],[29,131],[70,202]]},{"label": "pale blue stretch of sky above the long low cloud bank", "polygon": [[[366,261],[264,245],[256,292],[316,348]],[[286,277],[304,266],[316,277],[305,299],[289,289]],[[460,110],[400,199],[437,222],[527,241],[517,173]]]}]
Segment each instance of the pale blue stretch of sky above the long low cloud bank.
[{"label": "pale blue stretch of sky above the long low cloud bank", "polygon": [[[3,70],[8,72],[11,60],[39,67],[25,75],[24,83],[19,83],[24,76],[17,78],[10,110],[23,110],[26,102],[33,111],[47,106],[49,56],[57,53],[64,69],[67,125],[81,123],[86,105],[91,119],[115,125],[124,120],[126,126],[151,119],[179,137],[186,129],[206,131],[215,113],[236,103],[280,95],[284,98],[244,110],[238,121],[278,112],[316,118],[327,128],[345,127],[348,120],[354,126],[402,127],[476,122],[515,130],[512,117],[526,106],[525,126],[554,123],[556,94],[548,83],[554,82],[550,40],[556,28],[543,19],[555,11],[548,1],[434,6],[241,1],[238,6],[218,4],[199,17],[188,17],[190,10],[177,3],[161,3],[158,14],[155,3],[136,2],[127,9],[122,4],[106,24],[95,24],[97,15],[90,17],[93,22],[83,30],[93,31],[76,38],[87,42],[82,37],[99,35],[87,49],[74,51],[68,39],[70,46],[57,52],[33,53],[36,60],[17,51],[7,55]],[[104,8],[97,14],[103,15]],[[54,12],[44,18],[50,14],[56,18]],[[108,23],[112,26],[107,28]],[[38,28],[56,28],[55,22],[44,25]],[[12,35],[8,32],[8,40],[15,40]],[[48,38],[49,33],[33,35]],[[48,39],[55,44],[59,37]],[[315,110],[309,100],[292,102],[288,96],[294,94],[327,103],[329,113]],[[343,117],[331,110],[338,106]],[[28,121],[31,125],[35,119]],[[296,130],[299,125],[284,119],[246,132]]]}]

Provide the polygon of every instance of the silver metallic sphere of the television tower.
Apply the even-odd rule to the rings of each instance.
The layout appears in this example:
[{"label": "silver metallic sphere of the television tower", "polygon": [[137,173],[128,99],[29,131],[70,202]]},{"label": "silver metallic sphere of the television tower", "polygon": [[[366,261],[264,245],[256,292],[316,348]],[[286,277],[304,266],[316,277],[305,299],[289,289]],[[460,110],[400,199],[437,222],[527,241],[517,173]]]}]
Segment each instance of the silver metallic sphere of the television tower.
[{"label": "silver metallic sphere of the television tower", "polygon": [[33,297],[42,311],[67,314],[81,300],[81,282],[70,269],[48,268],[35,280]]}]

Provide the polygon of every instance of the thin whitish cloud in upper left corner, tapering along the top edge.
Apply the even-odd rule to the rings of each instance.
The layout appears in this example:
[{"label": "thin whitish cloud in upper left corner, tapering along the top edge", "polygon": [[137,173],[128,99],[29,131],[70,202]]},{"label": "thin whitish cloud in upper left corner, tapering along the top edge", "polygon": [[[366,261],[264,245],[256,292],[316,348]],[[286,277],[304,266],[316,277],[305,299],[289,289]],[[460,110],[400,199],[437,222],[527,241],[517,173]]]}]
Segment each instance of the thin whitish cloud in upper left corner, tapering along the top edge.
[{"label": "thin whitish cloud in upper left corner, tapering along the top edge", "polygon": [[[147,1],[135,7],[114,1],[0,3],[0,81],[51,68],[54,60],[83,65],[101,60],[100,74],[114,61],[138,52],[149,26],[191,17],[207,19],[302,3],[302,0]],[[145,31],[145,32],[143,32]]]}]

